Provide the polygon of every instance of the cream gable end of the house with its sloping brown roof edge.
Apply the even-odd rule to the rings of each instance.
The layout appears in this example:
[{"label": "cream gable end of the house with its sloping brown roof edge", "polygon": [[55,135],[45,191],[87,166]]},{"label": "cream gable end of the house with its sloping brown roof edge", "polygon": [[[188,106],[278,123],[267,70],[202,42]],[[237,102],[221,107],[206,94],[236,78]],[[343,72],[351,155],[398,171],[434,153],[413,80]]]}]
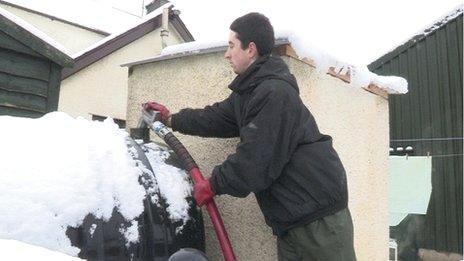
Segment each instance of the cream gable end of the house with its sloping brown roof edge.
[{"label": "cream gable end of the house with its sloping brown roof edge", "polygon": [[62,74],[58,110],[87,119],[111,117],[124,127],[130,72],[120,64],[159,54],[164,45],[192,40],[177,10],[169,4],[158,8],[130,28],[73,55],[76,65]]}]

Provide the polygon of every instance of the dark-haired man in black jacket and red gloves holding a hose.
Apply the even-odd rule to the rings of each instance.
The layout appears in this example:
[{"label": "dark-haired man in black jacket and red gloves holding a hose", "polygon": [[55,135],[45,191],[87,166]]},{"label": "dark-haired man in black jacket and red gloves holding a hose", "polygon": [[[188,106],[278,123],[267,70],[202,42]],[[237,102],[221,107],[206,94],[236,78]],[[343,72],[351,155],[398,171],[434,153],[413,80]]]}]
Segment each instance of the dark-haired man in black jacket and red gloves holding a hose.
[{"label": "dark-haired man in black jacket and red gloves holding a hose", "polygon": [[172,115],[161,104],[145,104],[175,131],[240,137],[236,152],[195,184],[198,205],[253,192],[277,235],[279,260],[355,260],[345,170],[332,138],[319,132],[302,103],[295,77],[271,55],[272,25],[250,13],[230,30],[225,58],[237,77],[227,99]]}]

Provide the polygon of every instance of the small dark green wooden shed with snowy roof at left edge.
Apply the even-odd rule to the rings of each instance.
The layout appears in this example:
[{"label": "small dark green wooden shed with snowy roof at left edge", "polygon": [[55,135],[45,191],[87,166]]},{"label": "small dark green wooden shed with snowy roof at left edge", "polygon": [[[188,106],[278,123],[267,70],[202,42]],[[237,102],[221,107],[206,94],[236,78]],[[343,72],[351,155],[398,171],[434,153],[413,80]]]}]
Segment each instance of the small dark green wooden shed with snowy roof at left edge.
[{"label": "small dark green wooden shed with snowy roof at left edge", "polygon": [[0,8],[0,115],[37,118],[58,107],[73,59],[47,35]]}]

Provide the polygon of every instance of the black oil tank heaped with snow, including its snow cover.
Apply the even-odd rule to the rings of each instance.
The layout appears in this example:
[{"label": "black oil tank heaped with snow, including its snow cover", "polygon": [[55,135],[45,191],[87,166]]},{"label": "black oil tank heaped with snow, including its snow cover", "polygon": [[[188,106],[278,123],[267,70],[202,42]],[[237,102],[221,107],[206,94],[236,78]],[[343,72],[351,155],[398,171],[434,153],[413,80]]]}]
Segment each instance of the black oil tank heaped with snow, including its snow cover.
[{"label": "black oil tank heaped with snow, including its snow cover", "polygon": [[165,145],[58,112],[0,125],[0,239],[87,260],[204,252],[191,180]]}]

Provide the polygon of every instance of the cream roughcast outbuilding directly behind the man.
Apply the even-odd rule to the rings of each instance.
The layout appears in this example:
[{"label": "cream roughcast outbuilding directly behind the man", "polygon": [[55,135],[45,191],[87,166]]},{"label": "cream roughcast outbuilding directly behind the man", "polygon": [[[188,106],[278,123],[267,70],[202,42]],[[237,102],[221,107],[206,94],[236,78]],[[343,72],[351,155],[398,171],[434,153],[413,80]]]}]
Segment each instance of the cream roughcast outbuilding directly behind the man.
[{"label": "cream roughcast outbuilding directly behind the man", "polygon": [[[356,83],[354,75],[359,76],[360,70],[350,66],[319,68],[317,61],[308,59],[312,57],[297,55],[292,48],[294,41],[279,38],[274,55],[281,56],[295,75],[300,96],[321,132],[334,138],[348,176],[357,257],[387,260],[388,96],[404,92],[396,91],[404,86],[386,81],[384,86],[375,84],[382,82],[379,79]],[[226,42],[186,43],[168,47],[154,58],[124,64],[130,72],[127,128],[136,127],[140,104],[146,101],[156,100],[176,112],[225,99],[230,94],[227,86],[235,77],[224,59],[226,49]],[[238,143],[238,139],[176,135],[206,176],[235,151]],[[277,260],[275,237],[253,195],[245,199],[220,196],[216,202],[238,260]],[[205,223],[207,255],[220,260],[220,247],[208,218]]]}]

